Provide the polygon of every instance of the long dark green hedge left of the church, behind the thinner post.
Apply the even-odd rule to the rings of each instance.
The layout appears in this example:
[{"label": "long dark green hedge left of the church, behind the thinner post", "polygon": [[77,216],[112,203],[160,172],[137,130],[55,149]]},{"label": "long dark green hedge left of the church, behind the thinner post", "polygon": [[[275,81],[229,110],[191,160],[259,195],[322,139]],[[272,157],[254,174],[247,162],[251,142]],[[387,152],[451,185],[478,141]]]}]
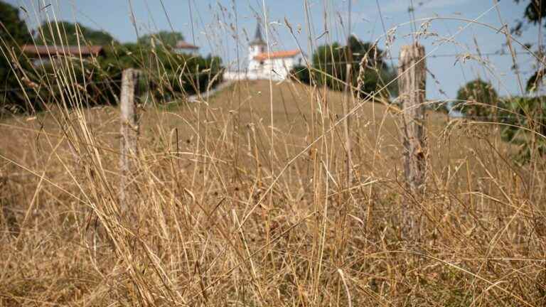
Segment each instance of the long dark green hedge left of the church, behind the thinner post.
[{"label": "long dark green hedge left of the church, behind the thinner post", "polygon": [[[116,104],[122,71],[127,68],[141,70],[142,92],[159,101],[193,95],[222,80],[218,57],[181,55],[132,43],[107,46],[104,55],[83,61],[72,58],[33,67],[28,58],[19,60],[23,70],[18,76],[11,74],[16,90],[8,92],[9,97],[4,99],[4,109],[11,112],[39,111],[45,104],[61,101],[87,107]],[[17,82],[21,78],[25,80],[25,92]],[[62,95],[75,99],[61,99]]]}]

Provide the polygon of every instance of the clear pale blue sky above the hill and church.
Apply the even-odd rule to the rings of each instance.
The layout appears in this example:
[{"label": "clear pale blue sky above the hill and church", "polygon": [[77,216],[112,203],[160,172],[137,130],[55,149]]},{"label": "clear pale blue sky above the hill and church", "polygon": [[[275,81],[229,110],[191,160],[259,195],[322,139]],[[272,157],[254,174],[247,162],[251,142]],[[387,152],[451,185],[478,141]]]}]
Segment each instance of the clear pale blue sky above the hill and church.
[{"label": "clear pale blue sky above the hill and church", "polygon": [[[344,40],[348,31],[347,1],[307,0],[309,18],[306,19],[304,0],[8,0],[28,11],[28,15],[23,17],[31,27],[39,20],[56,14],[63,20],[108,31],[122,42],[137,39],[132,22],[134,14],[139,34],[172,28],[181,31],[187,41],[195,40],[201,47],[201,53],[220,55],[225,63],[236,63],[238,49],[239,58],[242,59],[240,65],[245,65],[247,36],[254,33],[257,16],[264,18],[264,12],[267,12],[269,42],[273,50],[301,45],[309,54],[309,50],[316,45]],[[395,41],[389,50],[396,57],[401,45],[412,42],[412,26],[420,28],[424,23],[410,22],[412,16],[408,7],[411,1],[417,20],[443,17],[426,24],[427,31],[435,35],[419,39],[431,55],[477,53],[478,50],[481,53],[506,51],[506,38],[502,33],[449,18],[476,18],[481,23],[498,28],[502,22],[513,26],[515,20],[523,16],[524,9],[523,4],[517,5],[513,0],[501,0],[498,6],[495,0],[379,0],[380,18],[375,0],[353,0],[351,33],[364,41],[379,40],[380,47],[385,49],[382,23],[385,23],[387,31],[395,28]],[[37,2],[52,5],[40,10],[36,7]],[[190,17],[190,5],[193,18]],[[39,13],[36,14],[36,11]],[[294,29],[294,35],[284,26],[285,18]],[[235,35],[235,25],[238,35]],[[311,31],[308,31],[309,28]],[[309,44],[309,36],[313,38],[313,44]],[[530,26],[518,39],[524,43],[536,42],[537,36],[537,27]],[[236,38],[239,43],[236,43]],[[515,48],[521,50],[517,45]],[[518,75],[511,69],[512,58],[492,55],[484,59],[429,58],[427,97],[454,98],[461,85],[476,77],[491,81],[500,95],[520,95]],[[535,61],[529,55],[518,55],[516,60],[519,80],[525,86]],[[397,60],[393,59],[392,63],[396,65]]]}]

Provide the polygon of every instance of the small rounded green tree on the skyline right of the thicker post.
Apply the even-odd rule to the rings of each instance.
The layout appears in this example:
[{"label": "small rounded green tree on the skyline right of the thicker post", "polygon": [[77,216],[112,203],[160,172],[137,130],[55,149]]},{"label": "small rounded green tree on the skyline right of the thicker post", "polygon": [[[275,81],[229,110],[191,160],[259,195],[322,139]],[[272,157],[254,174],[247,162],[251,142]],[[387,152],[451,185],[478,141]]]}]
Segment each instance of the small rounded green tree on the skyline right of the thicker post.
[{"label": "small rounded green tree on the skyline right of the thicker post", "polygon": [[488,117],[498,104],[498,95],[491,83],[476,79],[459,89],[457,100],[454,109],[466,117]]}]

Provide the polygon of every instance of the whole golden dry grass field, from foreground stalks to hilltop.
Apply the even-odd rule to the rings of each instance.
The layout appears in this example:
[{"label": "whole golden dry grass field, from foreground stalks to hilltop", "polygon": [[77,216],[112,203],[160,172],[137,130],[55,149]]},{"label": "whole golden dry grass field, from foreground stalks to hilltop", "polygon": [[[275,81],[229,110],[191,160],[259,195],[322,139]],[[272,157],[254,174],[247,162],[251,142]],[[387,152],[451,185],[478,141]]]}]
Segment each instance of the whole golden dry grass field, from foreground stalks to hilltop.
[{"label": "whole golden dry grass field, from foreground stalks to hilltop", "polygon": [[145,101],[127,215],[116,107],[2,119],[0,306],[542,306],[541,168],[429,112],[404,242],[400,112],[351,102],[348,185],[342,102],[268,81]]}]

